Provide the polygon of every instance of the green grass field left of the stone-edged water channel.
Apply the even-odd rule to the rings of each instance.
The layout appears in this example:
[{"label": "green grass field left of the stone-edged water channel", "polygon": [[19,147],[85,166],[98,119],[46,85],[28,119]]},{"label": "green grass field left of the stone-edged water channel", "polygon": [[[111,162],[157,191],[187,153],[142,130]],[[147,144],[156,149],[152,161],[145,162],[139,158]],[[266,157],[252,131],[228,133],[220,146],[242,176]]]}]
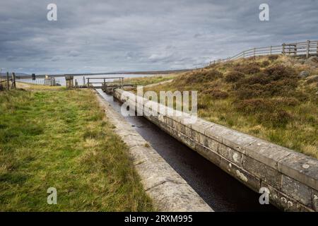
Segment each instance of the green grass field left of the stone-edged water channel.
[{"label": "green grass field left of the stone-edged water channel", "polygon": [[153,210],[90,90],[0,92],[0,119],[1,211]]}]

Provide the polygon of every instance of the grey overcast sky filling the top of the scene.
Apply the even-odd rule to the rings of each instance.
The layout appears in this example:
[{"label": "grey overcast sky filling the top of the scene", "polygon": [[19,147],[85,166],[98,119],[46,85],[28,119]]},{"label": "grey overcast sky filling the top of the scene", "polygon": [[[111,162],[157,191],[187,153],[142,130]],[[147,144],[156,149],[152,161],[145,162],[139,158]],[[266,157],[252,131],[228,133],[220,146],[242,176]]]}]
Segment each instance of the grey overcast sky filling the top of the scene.
[{"label": "grey overcast sky filling the top of the scene", "polygon": [[[47,5],[57,4],[57,21]],[[259,20],[269,4],[270,21]],[[24,73],[188,69],[250,47],[318,40],[318,0],[0,2],[0,67]]]}]

